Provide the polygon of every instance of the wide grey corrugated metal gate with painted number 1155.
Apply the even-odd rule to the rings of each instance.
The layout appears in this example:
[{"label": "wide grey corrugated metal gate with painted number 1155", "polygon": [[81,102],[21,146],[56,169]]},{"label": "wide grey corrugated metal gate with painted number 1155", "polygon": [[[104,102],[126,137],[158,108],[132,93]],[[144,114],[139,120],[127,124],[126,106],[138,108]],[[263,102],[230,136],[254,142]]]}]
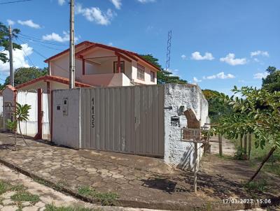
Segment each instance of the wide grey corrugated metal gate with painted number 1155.
[{"label": "wide grey corrugated metal gate with painted number 1155", "polygon": [[81,148],[164,156],[164,87],[80,90]]}]

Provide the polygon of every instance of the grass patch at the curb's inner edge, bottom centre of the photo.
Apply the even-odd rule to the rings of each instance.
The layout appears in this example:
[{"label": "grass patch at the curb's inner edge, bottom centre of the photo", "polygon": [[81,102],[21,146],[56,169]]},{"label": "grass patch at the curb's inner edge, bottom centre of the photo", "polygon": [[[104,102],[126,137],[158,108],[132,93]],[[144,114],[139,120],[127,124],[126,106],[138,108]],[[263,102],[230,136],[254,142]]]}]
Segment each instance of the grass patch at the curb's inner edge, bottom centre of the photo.
[{"label": "grass patch at the curb's inner edge, bottom centre of the photo", "polygon": [[88,186],[78,187],[78,194],[97,199],[102,205],[105,206],[114,205],[116,199],[118,198],[118,194],[116,193],[99,193],[95,191],[95,189]]}]

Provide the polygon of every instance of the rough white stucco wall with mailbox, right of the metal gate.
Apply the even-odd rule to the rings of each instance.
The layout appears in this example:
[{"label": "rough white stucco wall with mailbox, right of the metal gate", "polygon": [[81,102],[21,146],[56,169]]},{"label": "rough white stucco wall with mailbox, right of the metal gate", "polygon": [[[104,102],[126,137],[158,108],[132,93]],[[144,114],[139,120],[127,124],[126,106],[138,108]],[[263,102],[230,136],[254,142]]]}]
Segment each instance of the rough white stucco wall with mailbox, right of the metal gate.
[{"label": "rough white stucco wall with mailbox, right of the metal gate", "polygon": [[[208,119],[208,102],[200,87],[195,85],[165,85],[165,107],[169,106],[172,106],[171,110],[165,109],[165,161],[178,168],[192,170],[194,144],[181,141],[181,127],[188,125],[186,116],[179,113],[179,107],[193,109],[203,126]],[[174,115],[179,116],[181,127],[172,126],[171,117]],[[202,152],[200,148],[200,157]]]}]

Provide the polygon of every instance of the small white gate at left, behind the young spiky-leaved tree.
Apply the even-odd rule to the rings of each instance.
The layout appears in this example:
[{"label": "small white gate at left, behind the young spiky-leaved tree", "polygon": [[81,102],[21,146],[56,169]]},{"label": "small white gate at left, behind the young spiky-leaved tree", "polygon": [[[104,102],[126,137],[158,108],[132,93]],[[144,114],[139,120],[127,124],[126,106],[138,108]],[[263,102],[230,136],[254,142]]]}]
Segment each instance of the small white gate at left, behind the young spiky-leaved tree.
[{"label": "small white gate at left, behind the young spiky-leaved tree", "polygon": [[[17,102],[21,105],[29,105],[29,120],[20,122],[22,134],[25,136],[36,136],[38,131],[38,96],[34,92],[18,92]],[[20,131],[18,126],[18,132]]]}]

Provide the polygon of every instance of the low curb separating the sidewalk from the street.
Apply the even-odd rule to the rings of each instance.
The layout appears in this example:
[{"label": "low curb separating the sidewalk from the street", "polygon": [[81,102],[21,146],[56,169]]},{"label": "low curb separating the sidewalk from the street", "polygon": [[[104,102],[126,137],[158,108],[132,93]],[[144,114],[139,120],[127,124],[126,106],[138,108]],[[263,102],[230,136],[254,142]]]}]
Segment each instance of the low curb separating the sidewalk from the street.
[{"label": "low curb separating the sidewalk from the street", "polygon": [[[6,161],[6,159],[3,159],[0,157],[0,163],[7,166],[8,168],[12,168],[14,170],[17,170],[19,173],[22,173],[23,175],[26,175],[27,177],[31,177],[34,180],[40,180],[48,187],[51,187],[52,189],[55,189],[56,191],[60,191],[64,194],[68,194],[70,196],[73,196],[75,198],[78,198],[82,201],[88,202],[88,203],[94,203],[94,204],[100,204],[99,201],[97,201],[94,198],[89,198],[86,196],[82,196],[78,194],[76,191],[73,191],[72,189],[68,189],[66,187],[61,187],[57,185],[55,182],[52,182],[50,180],[45,180],[45,178],[40,177],[34,173],[30,173],[28,170],[25,170],[24,168],[15,165],[14,163],[10,161]],[[199,196],[197,196],[199,197]],[[191,210],[223,210],[223,211],[231,211],[231,210],[243,210],[243,209],[252,209],[252,208],[265,208],[272,205],[279,205],[280,204],[280,197],[271,198],[271,203],[269,205],[260,205],[258,203],[251,203],[251,204],[243,204],[243,203],[223,203],[222,201],[217,202],[205,202],[204,204],[195,204],[195,203],[181,203],[177,201],[165,201],[165,202],[159,202],[159,201],[132,201],[132,200],[124,200],[124,199],[117,199],[116,203],[114,205],[122,206],[122,207],[131,207],[131,208],[150,208],[150,209],[158,209],[158,210],[184,210],[184,211],[191,211]]]}]

